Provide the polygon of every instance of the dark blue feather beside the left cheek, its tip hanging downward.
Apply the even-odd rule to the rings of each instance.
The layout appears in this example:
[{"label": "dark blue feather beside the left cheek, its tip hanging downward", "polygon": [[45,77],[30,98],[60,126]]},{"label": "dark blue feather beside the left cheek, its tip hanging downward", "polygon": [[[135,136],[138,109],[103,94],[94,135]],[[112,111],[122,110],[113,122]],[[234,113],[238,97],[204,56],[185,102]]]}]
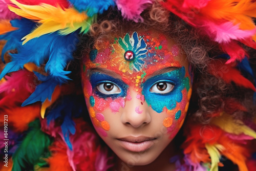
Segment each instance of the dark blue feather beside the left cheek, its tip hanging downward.
[{"label": "dark blue feather beside the left cheek, its tip hanging downward", "polygon": [[61,103],[59,103],[54,109],[52,109],[46,116],[48,125],[53,120],[63,120],[63,122],[61,123],[62,134],[71,150],[72,144],[70,142],[69,135],[74,135],[76,131],[75,123],[72,120],[72,117],[78,118],[81,117],[82,114],[84,114],[84,111],[86,111],[84,104],[85,102],[83,96],[65,96],[63,97],[63,100],[61,100]]}]

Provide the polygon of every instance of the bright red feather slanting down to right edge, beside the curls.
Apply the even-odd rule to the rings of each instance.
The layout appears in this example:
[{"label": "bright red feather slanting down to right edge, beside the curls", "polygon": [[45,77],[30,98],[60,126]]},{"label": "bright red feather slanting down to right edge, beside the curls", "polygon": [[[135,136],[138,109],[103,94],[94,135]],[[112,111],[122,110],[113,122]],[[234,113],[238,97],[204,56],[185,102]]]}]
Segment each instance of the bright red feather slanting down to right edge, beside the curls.
[{"label": "bright red feather slanting down to right edge, beside the curls", "polygon": [[230,64],[225,65],[223,60],[221,59],[211,60],[208,66],[208,71],[210,74],[215,75],[217,78],[223,79],[227,83],[230,83],[231,81],[233,81],[238,86],[242,86],[244,88],[248,88],[253,91],[256,91],[253,84],[248,79],[243,77],[239,70],[237,70],[236,68],[233,68],[232,65]]}]

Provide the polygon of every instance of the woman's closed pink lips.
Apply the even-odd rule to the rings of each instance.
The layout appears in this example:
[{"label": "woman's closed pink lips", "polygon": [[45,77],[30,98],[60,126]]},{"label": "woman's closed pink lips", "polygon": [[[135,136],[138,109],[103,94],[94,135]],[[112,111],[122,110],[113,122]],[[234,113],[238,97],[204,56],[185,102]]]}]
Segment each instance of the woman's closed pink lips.
[{"label": "woman's closed pink lips", "polygon": [[154,140],[156,138],[152,137],[124,137],[124,138],[118,138],[117,139],[121,146],[125,148],[127,151],[131,152],[144,152],[147,149],[151,148],[154,145]]}]

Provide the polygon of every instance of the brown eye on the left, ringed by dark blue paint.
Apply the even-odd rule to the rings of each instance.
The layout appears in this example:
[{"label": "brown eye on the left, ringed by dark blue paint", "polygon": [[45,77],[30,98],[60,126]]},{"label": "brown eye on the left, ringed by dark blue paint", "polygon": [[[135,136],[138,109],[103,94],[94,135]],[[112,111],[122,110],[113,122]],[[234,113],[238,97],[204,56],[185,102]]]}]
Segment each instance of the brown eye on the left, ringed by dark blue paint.
[{"label": "brown eye on the left, ringed by dark blue paint", "polygon": [[113,82],[101,83],[97,86],[97,89],[100,93],[103,93],[103,94],[119,94],[119,93],[121,93],[121,89]]}]

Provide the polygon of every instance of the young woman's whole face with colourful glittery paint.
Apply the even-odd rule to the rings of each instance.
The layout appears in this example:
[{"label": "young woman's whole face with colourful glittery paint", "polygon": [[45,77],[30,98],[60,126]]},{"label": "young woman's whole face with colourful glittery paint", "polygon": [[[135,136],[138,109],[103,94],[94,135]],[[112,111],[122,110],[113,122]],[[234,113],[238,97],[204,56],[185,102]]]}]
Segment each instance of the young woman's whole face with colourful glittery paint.
[{"label": "young woman's whole face with colourful glittery paint", "polygon": [[191,77],[180,47],[137,31],[102,41],[84,58],[83,93],[97,133],[125,163],[153,162],[188,108]]}]

